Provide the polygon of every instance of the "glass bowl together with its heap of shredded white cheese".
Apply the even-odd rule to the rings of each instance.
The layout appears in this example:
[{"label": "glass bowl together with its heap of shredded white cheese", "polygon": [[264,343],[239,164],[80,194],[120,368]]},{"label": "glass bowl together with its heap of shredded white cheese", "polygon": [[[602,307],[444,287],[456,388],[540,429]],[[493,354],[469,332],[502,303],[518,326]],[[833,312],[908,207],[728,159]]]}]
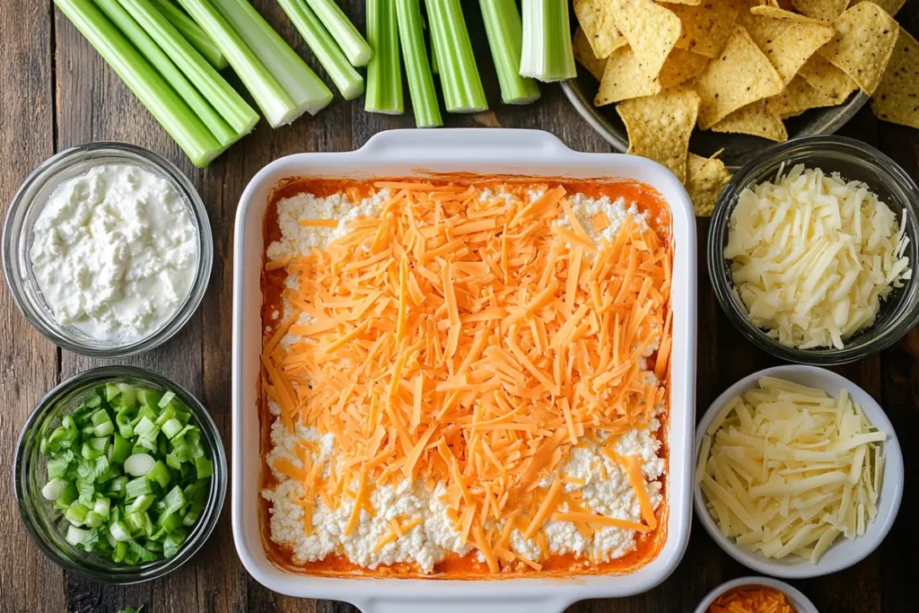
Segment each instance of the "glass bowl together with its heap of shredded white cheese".
[{"label": "glass bowl together with its heap of shredded white cheese", "polygon": [[733,176],[709,225],[709,278],[755,346],[834,365],[919,323],[919,188],[864,142],[817,136]]}]

